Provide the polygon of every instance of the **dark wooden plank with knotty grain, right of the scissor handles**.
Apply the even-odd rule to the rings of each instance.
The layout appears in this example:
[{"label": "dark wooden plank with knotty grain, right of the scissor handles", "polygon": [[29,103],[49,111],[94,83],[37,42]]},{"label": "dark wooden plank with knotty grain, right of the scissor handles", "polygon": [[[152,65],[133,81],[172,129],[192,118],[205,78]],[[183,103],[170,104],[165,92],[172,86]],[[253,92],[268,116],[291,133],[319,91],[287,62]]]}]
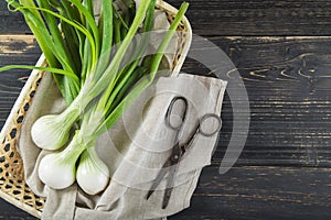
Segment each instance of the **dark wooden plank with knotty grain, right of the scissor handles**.
[{"label": "dark wooden plank with knotty grain, right of the scissor handles", "polygon": [[[330,166],[331,37],[209,40],[234,62],[249,98],[249,134],[238,164]],[[207,54],[210,48],[197,41],[192,50]],[[182,70],[206,75],[217,70],[214,66],[206,69],[189,59]],[[231,72],[222,78],[233,81]],[[222,119],[215,162],[222,160],[233,132],[228,96]]]}]

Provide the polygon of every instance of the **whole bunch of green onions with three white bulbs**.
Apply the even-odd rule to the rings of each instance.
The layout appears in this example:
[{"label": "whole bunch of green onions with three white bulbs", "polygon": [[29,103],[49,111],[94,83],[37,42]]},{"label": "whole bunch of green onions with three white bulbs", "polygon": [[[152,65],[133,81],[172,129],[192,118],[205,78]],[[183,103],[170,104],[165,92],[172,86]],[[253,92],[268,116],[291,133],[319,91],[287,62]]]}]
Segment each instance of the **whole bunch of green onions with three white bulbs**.
[{"label": "whole bunch of green onions with three white bulbs", "polygon": [[[77,180],[89,195],[100,193],[109,182],[108,167],[96,154],[97,138],[153,81],[188,9],[184,2],[157,53],[143,56],[156,0],[141,0],[137,10],[134,0],[121,0],[126,7],[120,11],[116,10],[116,2],[100,1],[97,21],[93,0],[7,0],[10,10],[24,15],[47,66],[0,68],[0,72],[33,68],[53,74],[67,108],[60,114],[39,118],[32,127],[34,143],[52,151],[41,160],[39,176],[54,189],[66,188]],[[137,43],[135,35],[141,25],[147,37]],[[125,62],[132,45],[135,53]]]}]

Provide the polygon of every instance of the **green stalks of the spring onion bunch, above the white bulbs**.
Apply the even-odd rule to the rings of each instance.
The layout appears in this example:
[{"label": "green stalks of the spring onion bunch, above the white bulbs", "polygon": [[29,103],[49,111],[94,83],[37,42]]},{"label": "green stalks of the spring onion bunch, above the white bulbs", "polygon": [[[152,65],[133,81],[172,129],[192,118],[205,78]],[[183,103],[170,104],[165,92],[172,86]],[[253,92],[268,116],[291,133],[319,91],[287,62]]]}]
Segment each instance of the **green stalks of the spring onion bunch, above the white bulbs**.
[{"label": "green stalks of the spring onion bunch, above the white bulbs", "polygon": [[[67,97],[71,97],[66,98],[64,96],[66,101],[71,99],[68,100],[71,106],[66,111],[70,112],[72,121],[77,120],[79,114],[84,110],[87,110],[87,112],[84,113],[81,130],[77,132],[84,134],[84,141],[86,140],[89,143],[89,140],[96,139],[108,130],[122,114],[124,110],[153,81],[163,54],[188,9],[188,3],[182,4],[166,37],[160,44],[157,54],[152,57],[149,76],[141,78],[141,75],[143,75],[148,68],[146,68],[146,66],[137,66],[148,45],[147,40],[142,40],[142,43],[138,46],[138,52],[134,53],[134,57],[137,56],[137,58],[135,57],[132,63],[122,69],[120,69],[120,65],[145,18],[143,31],[148,32],[151,30],[156,0],[141,1],[130,29],[127,32],[127,24],[120,15],[115,22],[114,13],[116,12],[113,11],[111,0],[103,0],[103,38],[100,38],[99,29],[94,20],[92,0],[83,0],[83,3],[81,0],[68,0],[72,6],[65,4],[63,7],[55,0],[46,1],[47,3],[52,2],[62,14],[53,12],[52,7],[42,0],[36,1],[40,3],[39,8],[34,6],[33,0],[21,0],[21,2],[25,4],[20,6],[14,2],[11,3],[11,6],[24,14],[25,20],[30,22],[29,25],[32,26],[40,42],[44,44],[43,48],[45,48],[47,56],[50,56],[50,61],[47,61],[51,68],[38,68],[52,69],[56,74],[72,77],[63,77],[60,79],[63,82],[61,91],[66,91]],[[64,2],[64,0],[61,1]],[[72,14],[76,9],[77,12]],[[49,25],[45,25],[44,20],[40,15],[41,12],[44,14],[45,22],[50,23]],[[76,21],[71,20],[73,16],[76,18]],[[62,33],[57,25],[55,25],[56,18],[67,24],[66,28],[68,31],[65,31],[66,36],[70,36],[70,34],[76,36],[73,41],[75,44],[79,44],[79,61],[87,62],[87,65],[83,65],[82,67],[83,85],[78,94],[75,94],[75,89],[79,89],[79,82],[72,86],[70,81],[79,81],[78,75],[75,75],[77,68],[75,64],[73,64],[74,61],[70,57],[68,47],[66,45],[66,43],[70,43],[70,40],[66,40],[68,42],[63,41]],[[116,26],[115,30],[113,30],[113,26]],[[121,26],[122,29],[120,29]],[[122,36],[122,33],[126,35]],[[110,53],[114,36],[119,41],[122,37],[124,40],[111,58]],[[110,58],[111,61],[109,63]],[[62,64],[63,69],[55,68],[58,67],[58,63]],[[21,67],[28,68],[28,66]],[[2,68],[0,68],[0,70]],[[141,79],[136,82],[139,78]],[[134,85],[135,87],[131,88]],[[97,99],[98,96],[100,96],[99,100]],[[98,103],[93,103],[93,100],[98,101]],[[71,127],[72,124],[68,125],[68,128]]]}]

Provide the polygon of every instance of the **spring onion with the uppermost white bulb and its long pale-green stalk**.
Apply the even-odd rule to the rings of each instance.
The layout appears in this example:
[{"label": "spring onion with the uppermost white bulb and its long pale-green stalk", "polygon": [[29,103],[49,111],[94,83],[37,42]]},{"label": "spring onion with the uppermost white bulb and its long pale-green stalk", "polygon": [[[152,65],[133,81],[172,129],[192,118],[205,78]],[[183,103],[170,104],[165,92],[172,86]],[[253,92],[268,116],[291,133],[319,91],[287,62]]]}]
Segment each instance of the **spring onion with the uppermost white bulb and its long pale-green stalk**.
[{"label": "spring onion with the uppermost white bulb and its long pale-green stalk", "polygon": [[[111,59],[109,66],[107,67],[107,69],[103,74],[100,74],[100,73],[89,73],[88,74],[89,75],[88,80],[84,84],[78,96],[73,101],[73,103],[68,107],[68,109],[66,109],[66,111],[64,111],[61,114],[57,114],[57,117],[53,116],[52,118],[49,118],[47,116],[45,116],[46,119],[43,119],[44,117],[41,117],[33,124],[33,127],[38,127],[39,129],[32,129],[32,131],[31,131],[32,140],[36,140],[40,138],[44,139],[44,141],[39,140],[38,143],[40,143],[40,145],[39,145],[40,147],[54,148],[54,150],[60,148],[60,147],[57,147],[60,145],[57,142],[53,143],[52,146],[45,146],[46,144],[49,144],[49,136],[42,135],[39,132],[45,131],[45,130],[52,130],[52,128],[50,128],[50,127],[52,127],[52,123],[61,123],[61,121],[62,121],[64,128],[62,129],[63,131],[61,131],[58,133],[68,131],[70,128],[73,125],[73,123],[65,123],[66,118],[68,116],[71,116],[73,121],[76,121],[79,117],[79,113],[84,111],[85,107],[94,98],[96,98],[108,86],[108,84],[111,84],[111,80],[114,80],[115,75],[117,74],[117,72],[120,67],[120,62],[121,62],[122,57],[125,56],[126,50],[130,45],[130,40],[137,33],[137,30],[145,18],[145,14],[146,14],[146,11],[148,9],[150,1],[151,0],[145,0],[139,6],[139,9],[135,16],[135,20],[134,20],[126,37],[120,43],[120,45],[119,45],[114,58]],[[106,16],[106,15],[104,15],[104,16]],[[103,55],[102,55],[102,57],[103,57]],[[98,64],[104,65],[103,62],[98,63]],[[100,68],[96,67],[95,69],[99,70]],[[74,107],[72,108],[72,106],[74,106]],[[77,109],[76,106],[78,106],[79,111],[76,111],[76,109]],[[47,119],[49,119],[49,121],[47,121]],[[45,123],[45,121],[46,121],[46,123]],[[34,133],[33,131],[36,131],[36,133]],[[63,141],[66,142],[67,140],[58,140],[58,142],[63,142]]]}]

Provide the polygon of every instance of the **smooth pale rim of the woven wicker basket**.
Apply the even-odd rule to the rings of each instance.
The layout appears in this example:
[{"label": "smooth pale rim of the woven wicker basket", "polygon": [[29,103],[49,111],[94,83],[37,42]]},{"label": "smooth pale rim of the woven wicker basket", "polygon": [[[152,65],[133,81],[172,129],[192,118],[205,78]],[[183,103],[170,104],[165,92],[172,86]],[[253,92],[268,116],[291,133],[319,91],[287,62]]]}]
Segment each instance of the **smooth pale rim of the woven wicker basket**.
[{"label": "smooth pale rim of the woven wicker basket", "polygon": [[[167,3],[166,1],[163,0],[157,0],[157,7],[159,7],[160,9],[162,10],[166,10],[167,12],[170,12],[172,14],[177,14],[178,13],[178,9],[175,9],[174,7],[172,7],[171,4]],[[180,69],[182,68],[182,65],[184,63],[184,59],[186,57],[186,54],[190,50],[190,46],[191,46],[191,42],[192,42],[192,28],[191,28],[191,24],[188,20],[186,16],[183,16],[182,19],[182,23],[183,25],[185,26],[185,44],[181,51],[181,56],[179,57],[173,70],[172,70],[172,74],[169,76],[169,77],[177,77],[180,73]],[[39,57],[38,62],[36,62],[36,66],[43,66],[46,64],[46,61],[45,61],[45,56],[43,54],[41,54],[41,56]],[[6,135],[10,132],[10,130],[12,129],[12,124],[14,123],[14,119],[17,117],[17,113],[18,113],[18,110],[20,109],[20,107],[24,103],[25,101],[25,96],[29,94],[32,85],[38,80],[39,78],[39,73],[41,73],[41,70],[36,70],[36,69],[33,69],[25,82],[25,85],[23,86],[19,97],[17,98],[6,122],[4,122],[4,125],[2,127],[1,129],[1,132],[0,132],[0,140],[4,140],[6,139]],[[14,197],[10,196],[9,194],[7,194],[6,191],[3,191],[1,188],[0,188],[0,197],[10,202],[11,205],[22,209],[23,211],[36,217],[36,218],[41,218],[42,216],[42,211],[38,210],[38,209],[34,209],[33,207],[29,206],[28,204],[24,204],[22,202],[21,200],[18,200],[15,199]]]}]

